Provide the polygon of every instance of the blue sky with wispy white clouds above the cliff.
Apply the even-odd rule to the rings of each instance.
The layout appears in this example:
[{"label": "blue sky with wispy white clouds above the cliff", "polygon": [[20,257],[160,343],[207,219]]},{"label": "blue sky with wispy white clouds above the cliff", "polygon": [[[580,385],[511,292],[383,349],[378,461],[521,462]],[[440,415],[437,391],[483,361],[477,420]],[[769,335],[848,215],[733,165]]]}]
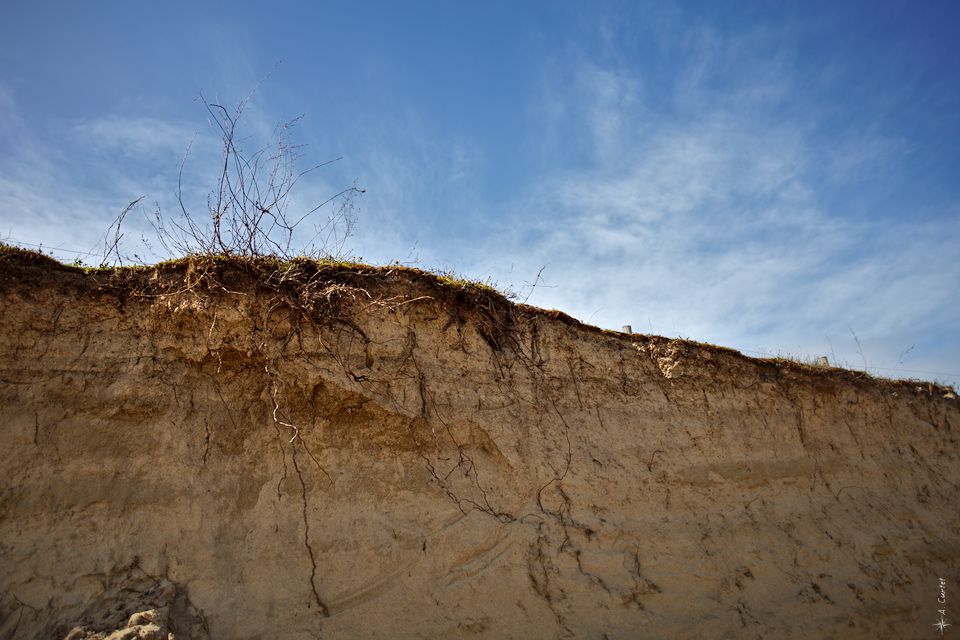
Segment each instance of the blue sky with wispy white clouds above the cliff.
[{"label": "blue sky with wispy white clouds above the cliff", "polygon": [[[96,250],[196,210],[217,142],[303,114],[296,206],[346,251],[603,327],[960,379],[955,2],[17,2],[0,7],[0,237]],[[279,62],[279,64],[277,64]],[[309,208],[309,207],[308,207]],[[859,346],[854,340],[859,339]]]}]

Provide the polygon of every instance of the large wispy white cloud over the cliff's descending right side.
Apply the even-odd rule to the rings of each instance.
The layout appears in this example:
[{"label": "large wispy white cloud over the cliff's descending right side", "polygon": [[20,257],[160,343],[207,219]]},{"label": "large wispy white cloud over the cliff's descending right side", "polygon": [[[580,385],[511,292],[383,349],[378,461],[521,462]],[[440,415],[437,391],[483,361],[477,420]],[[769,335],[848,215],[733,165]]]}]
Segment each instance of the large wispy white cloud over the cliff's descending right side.
[{"label": "large wispy white cloud over the cliff's descending right side", "polygon": [[[541,175],[495,232],[510,241],[471,254],[475,270],[509,264],[494,269],[509,282],[548,265],[554,286],[531,302],[601,326],[830,354],[889,375],[957,371],[960,342],[932,336],[960,326],[950,303],[960,233],[942,222],[960,212],[851,216],[824,204],[829,186],[818,182],[825,166],[834,181],[856,181],[903,143],[860,127],[833,146],[814,135],[815,110],[782,114],[779,102],[797,95],[789,52],[752,60],[715,34],[689,47],[700,50],[691,72],[664,85],[668,114],[642,72],[580,61],[545,109],[552,126],[586,132],[590,160]],[[740,81],[717,93],[712,73],[733,62]]]}]

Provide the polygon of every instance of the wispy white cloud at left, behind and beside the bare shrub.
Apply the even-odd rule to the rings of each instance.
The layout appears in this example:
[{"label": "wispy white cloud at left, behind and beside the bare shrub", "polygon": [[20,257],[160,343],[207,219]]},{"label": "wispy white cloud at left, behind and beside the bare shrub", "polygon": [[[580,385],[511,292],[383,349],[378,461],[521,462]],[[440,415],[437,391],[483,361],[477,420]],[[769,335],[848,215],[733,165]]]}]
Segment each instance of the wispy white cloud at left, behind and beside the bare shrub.
[{"label": "wispy white cloud at left, behind and beside the bare shrub", "polygon": [[[0,123],[2,135],[15,144],[0,158],[0,236],[29,246],[42,243],[61,259],[79,256],[96,262],[111,223],[142,196],[142,204],[124,220],[121,253],[147,261],[168,258],[152,220],[156,211],[168,220],[180,217],[181,189],[184,205],[203,224],[207,195],[222,169],[223,143],[220,132],[202,117],[199,126],[191,128],[175,120],[110,114],[82,123],[57,123],[55,135],[47,132],[41,137],[18,117],[12,95],[3,95],[8,99],[0,106],[8,113]],[[252,154],[275,144],[280,122],[264,109],[249,106],[237,129],[238,148]],[[264,166],[273,157],[265,155]],[[301,169],[307,167],[301,163]],[[316,180],[320,177],[304,176],[289,201],[292,215],[337,193],[332,181]],[[260,175],[258,180],[265,186],[269,176]],[[329,209],[315,216],[323,218],[320,224]],[[294,239],[295,246],[313,237],[314,229],[307,226]]]}]

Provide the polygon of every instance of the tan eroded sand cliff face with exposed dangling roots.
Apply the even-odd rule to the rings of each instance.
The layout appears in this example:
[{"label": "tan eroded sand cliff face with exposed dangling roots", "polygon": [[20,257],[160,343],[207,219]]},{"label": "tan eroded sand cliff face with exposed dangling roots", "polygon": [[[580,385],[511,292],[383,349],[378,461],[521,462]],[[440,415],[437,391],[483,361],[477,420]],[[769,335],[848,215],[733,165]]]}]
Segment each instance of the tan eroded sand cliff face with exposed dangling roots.
[{"label": "tan eroded sand cliff face with exposed dangling roots", "polygon": [[928,638],[960,584],[949,389],[402,268],[11,251],[0,309],[0,639]]}]

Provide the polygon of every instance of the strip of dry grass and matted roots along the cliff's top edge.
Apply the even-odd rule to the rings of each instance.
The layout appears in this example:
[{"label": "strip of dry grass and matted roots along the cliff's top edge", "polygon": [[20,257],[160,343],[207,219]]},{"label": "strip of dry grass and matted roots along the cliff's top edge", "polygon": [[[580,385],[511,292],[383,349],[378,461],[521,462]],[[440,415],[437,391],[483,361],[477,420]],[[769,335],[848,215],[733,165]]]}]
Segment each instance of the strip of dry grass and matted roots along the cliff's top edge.
[{"label": "strip of dry grass and matted roots along the cliff's top edge", "polygon": [[[175,292],[231,293],[236,282],[255,282],[274,295],[277,304],[321,325],[347,323],[344,304],[361,307],[398,307],[419,301],[441,303],[450,324],[476,323],[491,349],[516,350],[515,329],[531,317],[543,316],[617,340],[674,345],[690,351],[723,354],[763,363],[785,376],[813,376],[853,383],[892,385],[941,395],[955,393],[947,385],[916,379],[889,379],[864,371],[824,366],[793,357],[754,358],[739,351],[683,338],[625,334],[585,324],[562,311],[517,303],[516,294],[501,292],[490,283],[474,282],[448,273],[433,273],[402,265],[374,266],[337,258],[281,258],[225,253],[195,254],[147,266],[81,267],[42,253],[0,244],[0,261],[31,264],[44,269],[82,274],[96,287],[129,297],[155,297]],[[409,294],[397,297],[395,285],[404,283]],[[522,349],[519,350],[522,352]]]}]

